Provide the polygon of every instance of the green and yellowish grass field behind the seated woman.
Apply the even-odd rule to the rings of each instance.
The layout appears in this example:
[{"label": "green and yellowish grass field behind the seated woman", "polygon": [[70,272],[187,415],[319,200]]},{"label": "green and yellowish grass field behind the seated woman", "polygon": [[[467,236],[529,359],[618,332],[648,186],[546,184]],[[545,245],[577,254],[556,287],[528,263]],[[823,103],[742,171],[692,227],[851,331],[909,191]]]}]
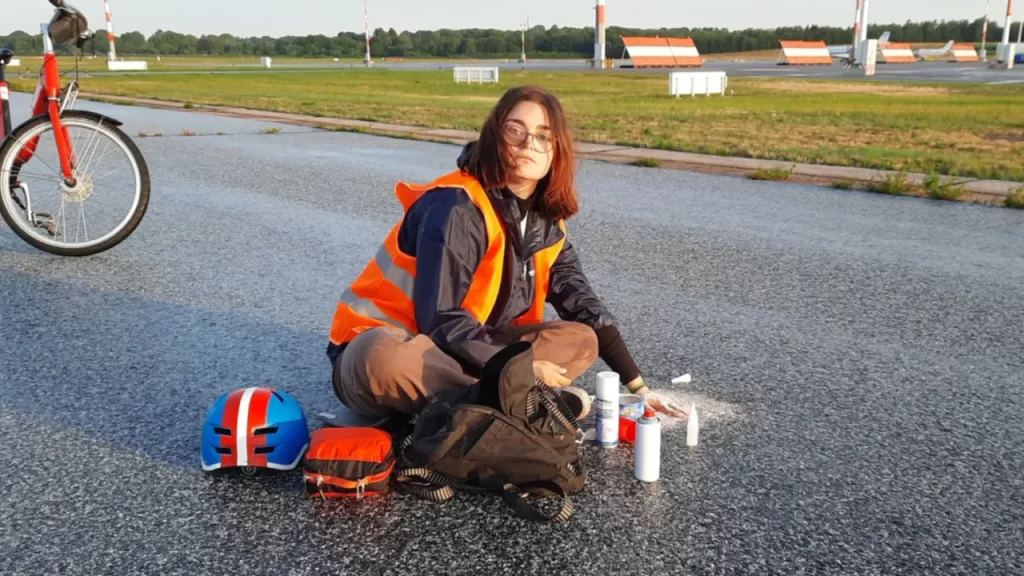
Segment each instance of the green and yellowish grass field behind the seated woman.
[{"label": "green and yellowish grass field behind the seated woman", "polygon": [[586,141],[1024,181],[1024,90],[1012,85],[736,78],[732,95],[674,98],[666,75],[626,73],[503,71],[482,86],[361,69],[81,79],[85,92],[468,130],[525,83],[553,90]]}]

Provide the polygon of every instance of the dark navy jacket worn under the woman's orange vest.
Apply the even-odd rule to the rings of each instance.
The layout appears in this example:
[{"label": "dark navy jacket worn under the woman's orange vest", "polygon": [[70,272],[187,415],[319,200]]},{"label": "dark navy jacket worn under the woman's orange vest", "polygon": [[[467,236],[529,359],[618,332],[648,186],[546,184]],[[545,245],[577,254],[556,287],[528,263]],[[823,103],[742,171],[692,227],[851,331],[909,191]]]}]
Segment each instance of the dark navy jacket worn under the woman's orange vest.
[{"label": "dark navy jacket worn under the woman's orange vest", "polygon": [[[467,145],[457,163],[462,165]],[[423,334],[470,373],[476,373],[502,349],[490,330],[511,325],[534,300],[532,255],[562,239],[555,220],[530,210],[521,237],[519,206],[507,191],[488,190],[487,196],[506,224],[505,272],[494,312],[481,325],[460,305],[486,250],[483,214],[461,189],[436,189],[410,207],[398,233],[402,252],[416,257],[416,323]],[[568,241],[551,270],[548,302],[562,320],[595,330],[616,324],[594,293]],[[340,346],[329,344],[335,361]]]}]

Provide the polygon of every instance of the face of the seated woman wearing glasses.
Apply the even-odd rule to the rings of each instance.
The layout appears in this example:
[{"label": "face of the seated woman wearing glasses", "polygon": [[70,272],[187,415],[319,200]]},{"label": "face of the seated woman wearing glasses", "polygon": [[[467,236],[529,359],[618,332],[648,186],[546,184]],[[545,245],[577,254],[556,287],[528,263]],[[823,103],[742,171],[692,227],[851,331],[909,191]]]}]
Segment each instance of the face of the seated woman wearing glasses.
[{"label": "face of the seated woman wearing glasses", "polygon": [[530,101],[517,104],[509,111],[502,131],[508,143],[509,172],[513,179],[536,182],[548,175],[555,142],[543,106]]}]

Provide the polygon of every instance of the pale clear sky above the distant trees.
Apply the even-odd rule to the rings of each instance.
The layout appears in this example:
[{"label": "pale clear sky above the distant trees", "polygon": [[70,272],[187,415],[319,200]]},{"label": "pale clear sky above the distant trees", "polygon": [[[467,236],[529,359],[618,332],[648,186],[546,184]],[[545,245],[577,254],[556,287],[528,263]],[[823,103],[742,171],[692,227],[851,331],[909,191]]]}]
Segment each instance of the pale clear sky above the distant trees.
[{"label": "pale clear sky above the distant trees", "polygon": [[[102,0],[71,0],[93,30],[104,30]],[[45,0],[4,0],[0,34],[38,33],[52,7]],[[173,30],[197,36],[288,36],[362,31],[362,0],[110,0],[114,33]],[[592,26],[594,0],[368,0],[370,29],[436,30],[530,26]],[[730,30],[790,25],[850,26],[855,0],[607,0],[607,24],[631,28],[717,27]],[[1020,10],[1020,8],[1018,8]],[[984,0],[871,0],[872,23],[974,19]],[[1002,23],[1006,0],[992,0]]]}]

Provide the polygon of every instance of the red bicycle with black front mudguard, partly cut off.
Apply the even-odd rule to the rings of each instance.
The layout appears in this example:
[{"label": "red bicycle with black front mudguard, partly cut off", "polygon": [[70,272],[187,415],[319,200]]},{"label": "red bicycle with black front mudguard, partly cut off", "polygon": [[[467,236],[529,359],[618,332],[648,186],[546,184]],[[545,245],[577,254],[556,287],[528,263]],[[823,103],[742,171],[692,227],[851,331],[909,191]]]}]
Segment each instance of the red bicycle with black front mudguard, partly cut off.
[{"label": "red bicycle with black front mudguard, partly cut off", "polygon": [[[120,121],[72,110],[79,93],[78,67],[76,80],[61,86],[53,46],[74,40],[81,51],[95,34],[82,12],[63,0],[49,2],[54,13],[40,26],[43,65],[32,96],[32,117],[13,129],[4,77],[13,52],[0,49],[0,215],[18,237],[40,250],[88,256],[117,246],[138,228],[150,204],[150,169]],[[100,172],[100,163],[108,159],[127,162]],[[97,190],[102,192],[94,195]],[[126,192],[127,210],[115,209],[113,217],[96,220],[97,208],[105,207],[120,190]],[[41,211],[50,208],[44,202],[50,197],[55,207]],[[76,207],[78,214],[70,214]]]}]

